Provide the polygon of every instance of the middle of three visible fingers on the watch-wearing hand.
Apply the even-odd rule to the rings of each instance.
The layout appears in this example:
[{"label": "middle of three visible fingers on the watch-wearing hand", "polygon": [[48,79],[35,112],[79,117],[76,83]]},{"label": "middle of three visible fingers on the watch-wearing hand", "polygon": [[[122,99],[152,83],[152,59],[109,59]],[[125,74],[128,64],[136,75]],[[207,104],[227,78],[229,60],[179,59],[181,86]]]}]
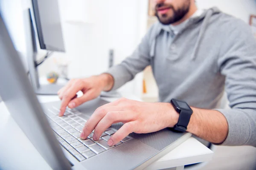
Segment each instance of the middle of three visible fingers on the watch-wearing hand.
[{"label": "middle of three visible fingers on the watch-wearing hand", "polygon": [[99,140],[102,133],[108,129],[113,123],[130,122],[133,119],[133,114],[128,111],[111,111],[104,116],[96,125],[93,135],[93,140]]}]

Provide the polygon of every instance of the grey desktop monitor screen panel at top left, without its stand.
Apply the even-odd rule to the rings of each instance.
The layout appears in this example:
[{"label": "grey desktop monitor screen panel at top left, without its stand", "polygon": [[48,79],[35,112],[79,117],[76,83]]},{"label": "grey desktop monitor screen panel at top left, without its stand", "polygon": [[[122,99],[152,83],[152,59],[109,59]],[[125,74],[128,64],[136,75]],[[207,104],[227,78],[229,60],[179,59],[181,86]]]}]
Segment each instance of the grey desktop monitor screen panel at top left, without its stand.
[{"label": "grey desktop monitor screen panel at top left, without its stand", "polygon": [[41,49],[65,51],[58,0],[32,0]]}]

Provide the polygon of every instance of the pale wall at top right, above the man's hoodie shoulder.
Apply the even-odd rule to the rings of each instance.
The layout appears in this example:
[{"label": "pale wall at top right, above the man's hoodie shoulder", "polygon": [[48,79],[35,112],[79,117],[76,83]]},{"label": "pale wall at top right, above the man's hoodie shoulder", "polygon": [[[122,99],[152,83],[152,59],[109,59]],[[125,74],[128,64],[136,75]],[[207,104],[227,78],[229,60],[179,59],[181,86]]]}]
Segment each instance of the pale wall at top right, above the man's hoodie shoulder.
[{"label": "pale wall at top right, above the man's hoodie shoulder", "polygon": [[200,9],[217,6],[221,11],[249,24],[250,14],[256,15],[256,0],[196,0]]}]

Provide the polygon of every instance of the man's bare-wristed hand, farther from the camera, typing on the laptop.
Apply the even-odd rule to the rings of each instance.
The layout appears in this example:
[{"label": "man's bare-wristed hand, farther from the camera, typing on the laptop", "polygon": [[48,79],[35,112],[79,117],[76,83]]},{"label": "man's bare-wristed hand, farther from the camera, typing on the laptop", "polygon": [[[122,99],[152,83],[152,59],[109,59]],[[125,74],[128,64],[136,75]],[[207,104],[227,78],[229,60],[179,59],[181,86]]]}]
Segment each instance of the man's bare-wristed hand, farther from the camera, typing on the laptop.
[{"label": "man's bare-wristed hand, farther from the camera, typing on the laptop", "polygon": [[[109,91],[113,86],[113,77],[110,74],[101,74],[85,79],[71,79],[66,86],[58,91],[61,99],[59,116],[63,116],[66,107],[75,108],[84,102],[95,99],[101,91]],[[83,96],[77,97],[76,93],[82,91]]]}]

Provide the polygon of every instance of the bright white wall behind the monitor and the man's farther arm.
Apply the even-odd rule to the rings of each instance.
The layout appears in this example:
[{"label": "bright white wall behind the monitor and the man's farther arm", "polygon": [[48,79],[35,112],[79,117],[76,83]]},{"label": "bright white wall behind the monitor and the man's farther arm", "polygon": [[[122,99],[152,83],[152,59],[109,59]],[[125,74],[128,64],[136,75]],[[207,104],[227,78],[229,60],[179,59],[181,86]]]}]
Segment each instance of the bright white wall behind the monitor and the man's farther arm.
[{"label": "bright white wall behind the monitor and the man's farther arm", "polygon": [[[108,69],[111,48],[114,49],[115,64],[121,62],[134,51],[145,34],[147,4],[147,0],[59,0],[66,53],[54,53],[47,59],[39,67],[40,76],[56,69],[56,58],[70,61],[70,78],[100,74]],[[24,59],[23,11],[29,7],[31,0],[0,0],[16,49]],[[42,56],[45,51],[39,50],[39,54]],[[138,89],[141,88],[136,88],[142,86],[140,81],[141,78],[130,83],[127,91],[140,93]]]}]

